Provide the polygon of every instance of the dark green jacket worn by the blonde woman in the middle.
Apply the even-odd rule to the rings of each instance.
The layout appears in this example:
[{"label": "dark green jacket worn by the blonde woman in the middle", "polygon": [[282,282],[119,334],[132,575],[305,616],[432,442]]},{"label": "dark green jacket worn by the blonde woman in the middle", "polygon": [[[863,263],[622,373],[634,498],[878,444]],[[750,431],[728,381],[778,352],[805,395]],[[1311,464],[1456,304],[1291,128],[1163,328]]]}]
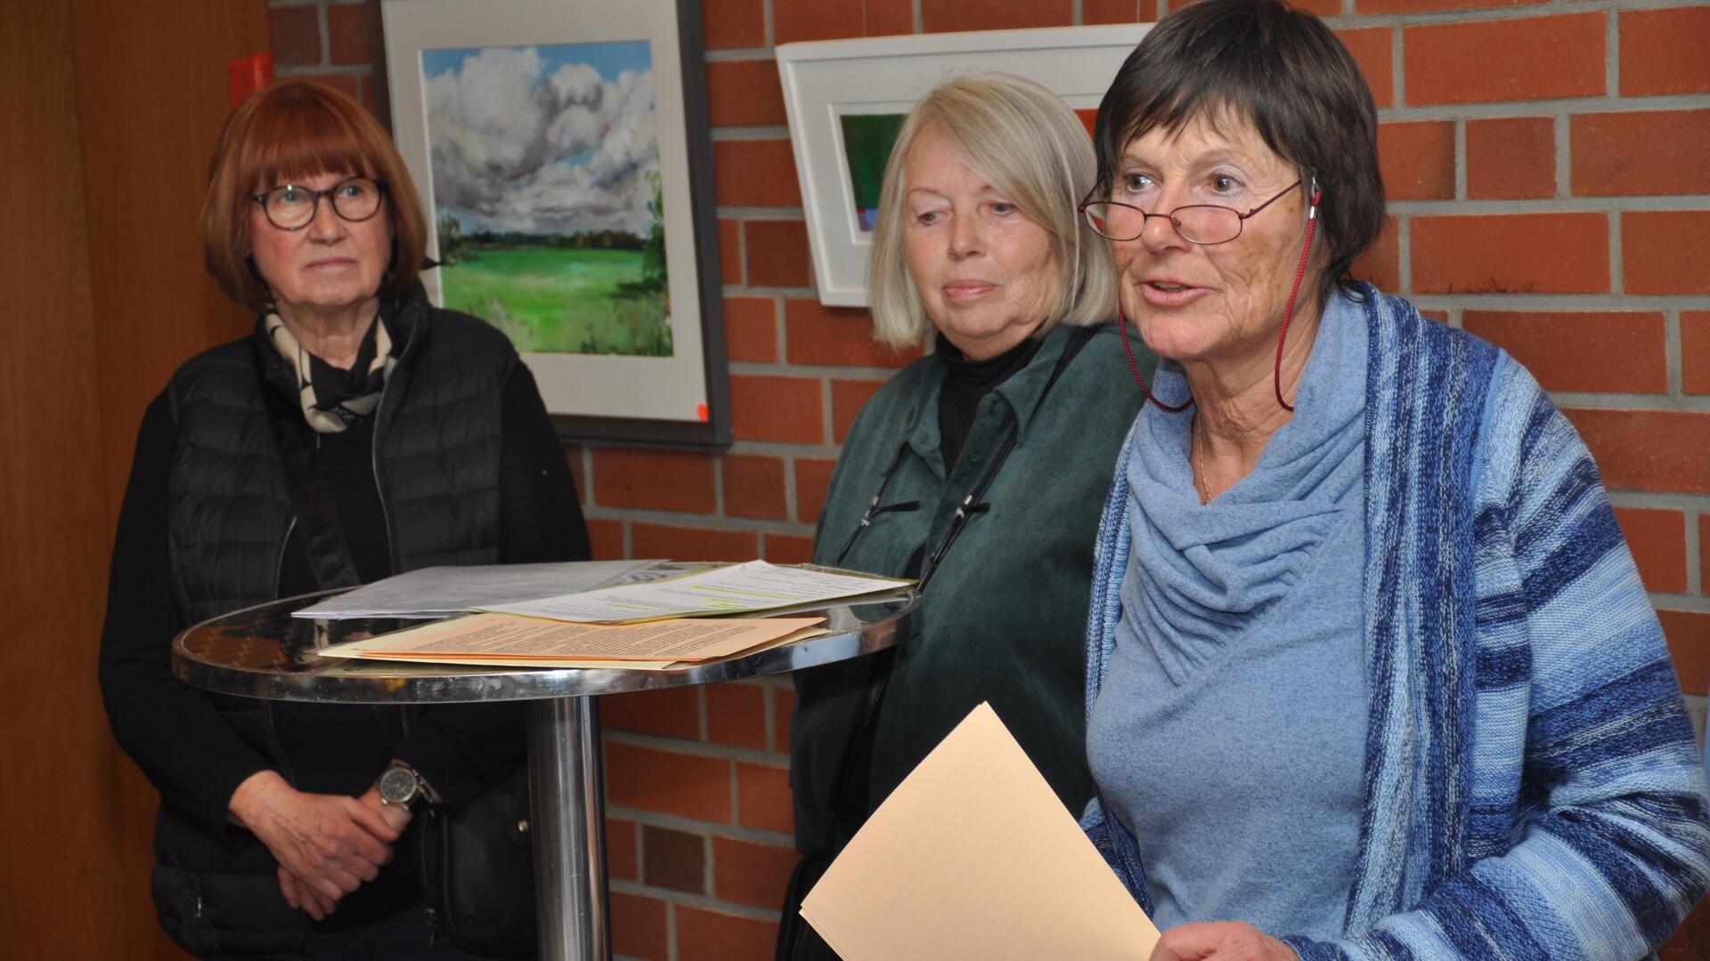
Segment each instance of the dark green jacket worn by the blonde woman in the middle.
[{"label": "dark green jacket worn by the blonde woman in the middle", "polygon": [[[1070,811],[1079,812],[1093,795],[1082,708],[1093,539],[1142,395],[1110,325],[1086,342],[1047,395],[1070,335],[1072,328],[1053,328],[1033,361],[980,402],[947,479],[937,417],[944,363],[937,357],[915,361],[884,385],[843,445],[819,515],[814,563],[905,576],[917,551],[930,556],[942,544],[956,506],[985,474],[1009,426],[1019,424],[1016,448],[983,498],[992,510],[973,516],[944,556],[922,598],[917,631],[896,651],[862,816],[982,701],[992,703]],[[1156,357],[1134,345],[1149,373]],[[881,504],[918,501],[920,508],[876,515],[840,561],[881,486]],[[834,853],[831,793],[870,674],[872,658],[857,658],[795,675],[790,783],[804,855]]]}]

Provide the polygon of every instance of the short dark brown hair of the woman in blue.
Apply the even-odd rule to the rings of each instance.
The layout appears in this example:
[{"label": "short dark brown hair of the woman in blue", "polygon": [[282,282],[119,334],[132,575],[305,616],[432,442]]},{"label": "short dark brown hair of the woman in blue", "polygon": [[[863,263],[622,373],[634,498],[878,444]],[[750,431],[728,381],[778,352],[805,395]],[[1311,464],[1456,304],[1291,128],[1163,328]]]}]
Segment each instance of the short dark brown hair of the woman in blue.
[{"label": "short dark brown hair of the woman in blue", "polygon": [[1342,41],[1279,0],[1195,0],[1171,10],[1098,106],[1094,195],[1110,195],[1129,142],[1195,118],[1247,120],[1279,157],[1317,178],[1327,251],[1320,298],[1332,282],[1347,287],[1349,265],[1383,229],[1383,178],[1377,106]]}]

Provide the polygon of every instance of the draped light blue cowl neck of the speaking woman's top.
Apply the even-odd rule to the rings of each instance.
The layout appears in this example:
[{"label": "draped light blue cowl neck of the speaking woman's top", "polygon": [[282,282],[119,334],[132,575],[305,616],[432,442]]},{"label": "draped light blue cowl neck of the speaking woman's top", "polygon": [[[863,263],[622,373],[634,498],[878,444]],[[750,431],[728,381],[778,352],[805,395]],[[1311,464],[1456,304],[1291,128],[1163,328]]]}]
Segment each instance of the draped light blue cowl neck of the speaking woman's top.
[{"label": "draped light blue cowl neck of the speaking woman's top", "polygon": [[[1158,368],[1153,393],[1188,398],[1175,361]],[[1188,465],[1194,409],[1141,410],[1130,441],[1134,504],[1123,617],[1171,682],[1262,624],[1315,561],[1337,523],[1359,522],[1366,330],[1359,304],[1330,296],[1294,398],[1294,417],[1265,445],[1252,474],[1209,504]]]}]

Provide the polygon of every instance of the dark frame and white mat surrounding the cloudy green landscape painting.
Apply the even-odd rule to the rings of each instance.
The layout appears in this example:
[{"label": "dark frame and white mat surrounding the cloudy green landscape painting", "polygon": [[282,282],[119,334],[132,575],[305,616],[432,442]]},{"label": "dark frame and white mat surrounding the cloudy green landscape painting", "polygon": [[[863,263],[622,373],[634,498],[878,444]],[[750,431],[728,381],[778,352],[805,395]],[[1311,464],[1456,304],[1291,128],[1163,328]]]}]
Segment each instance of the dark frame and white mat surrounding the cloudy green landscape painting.
[{"label": "dark frame and white mat surrounding the cloudy green landscape painting", "polygon": [[[566,50],[597,51],[602,44],[646,44],[641,50],[648,51],[650,133],[657,135],[665,263],[665,279],[655,280],[652,296],[662,298],[669,316],[670,352],[573,352],[576,347],[532,352],[527,345],[520,352],[564,439],[728,445],[723,287],[711,202],[699,0],[383,0],[381,22],[392,133],[426,205],[428,255],[436,260],[443,260],[434,229],[441,210],[434,197],[431,125],[439,120],[429,111],[429,63],[460,53],[530,51],[545,58]],[[535,80],[545,82],[551,80],[544,74]],[[564,236],[559,233],[556,243],[566,243]],[[422,272],[434,304],[445,306],[439,274],[455,268]]]}]

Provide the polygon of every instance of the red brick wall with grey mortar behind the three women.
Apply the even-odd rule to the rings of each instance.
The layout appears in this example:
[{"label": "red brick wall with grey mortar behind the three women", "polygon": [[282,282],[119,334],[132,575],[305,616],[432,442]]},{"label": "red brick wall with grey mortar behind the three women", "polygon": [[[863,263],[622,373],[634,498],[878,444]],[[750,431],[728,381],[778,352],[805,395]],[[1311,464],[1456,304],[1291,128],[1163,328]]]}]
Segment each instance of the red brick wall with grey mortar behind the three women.
[{"label": "red brick wall with grey mortar behind the three women", "polygon": [[[1710,682],[1710,7],[1306,0],[1377,96],[1380,287],[1525,363],[1597,455],[1695,706]],[[814,298],[771,44],[1154,19],[1158,0],[703,0],[722,457],[571,448],[604,557],[805,559],[838,445],[910,356]],[[371,97],[361,3],[280,3],[280,74]],[[770,12],[770,15],[768,15]],[[609,698],[614,944],[766,958],[792,864],[787,681]],[[1710,925],[1688,939],[1710,954]]]}]

